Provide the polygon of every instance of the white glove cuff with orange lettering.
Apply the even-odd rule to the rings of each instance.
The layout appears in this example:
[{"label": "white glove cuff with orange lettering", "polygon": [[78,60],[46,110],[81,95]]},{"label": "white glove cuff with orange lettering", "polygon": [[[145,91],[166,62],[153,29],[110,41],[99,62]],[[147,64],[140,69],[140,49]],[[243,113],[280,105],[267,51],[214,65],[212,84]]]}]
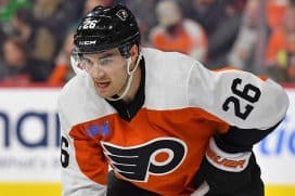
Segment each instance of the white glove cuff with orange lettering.
[{"label": "white glove cuff with orange lettering", "polygon": [[214,138],[210,138],[206,158],[215,168],[230,172],[243,171],[249,162],[252,152],[227,153],[220,149]]}]

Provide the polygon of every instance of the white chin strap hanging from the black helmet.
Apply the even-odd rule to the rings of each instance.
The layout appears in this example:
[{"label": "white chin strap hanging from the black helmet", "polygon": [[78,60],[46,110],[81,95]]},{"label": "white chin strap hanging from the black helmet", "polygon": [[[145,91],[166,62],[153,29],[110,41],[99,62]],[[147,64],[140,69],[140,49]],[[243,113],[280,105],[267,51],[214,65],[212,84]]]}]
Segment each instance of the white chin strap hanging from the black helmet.
[{"label": "white chin strap hanging from the black helmet", "polygon": [[128,93],[128,91],[129,91],[129,89],[131,87],[132,80],[133,80],[133,74],[138,69],[138,66],[139,66],[139,63],[140,63],[141,58],[142,58],[142,54],[140,52],[139,56],[138,56],[138,60],[137,60],[137,63],[136,63],[136,67],[132,70],[130,70],[130,66],[131,66],[131,63],[132,63],[131,56],[126,60],[127,61],[128,80],[127,80],[127,84],[125,87],[125,90],[124,90],[124,92],[121,93],[120,96],[115,97],[115,99],[114,97],[105,97],[106,100],[108,100],[108,101],[118,101],[118,100],[121,100]]}]

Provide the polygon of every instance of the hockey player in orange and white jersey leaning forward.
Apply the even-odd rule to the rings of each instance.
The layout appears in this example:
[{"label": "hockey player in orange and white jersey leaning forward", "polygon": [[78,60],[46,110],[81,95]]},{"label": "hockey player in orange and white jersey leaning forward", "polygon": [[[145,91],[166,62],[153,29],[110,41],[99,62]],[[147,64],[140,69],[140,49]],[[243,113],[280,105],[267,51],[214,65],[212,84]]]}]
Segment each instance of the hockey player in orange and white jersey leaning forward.
[{"label": "hockey player in orange and white jersey leaning forward", "polygon": [[124,5],[93,9],[74,40],[77,75],[59,97],[64,196],[264,195],[252,148],[285,116],[278,83],[141,48]]}]

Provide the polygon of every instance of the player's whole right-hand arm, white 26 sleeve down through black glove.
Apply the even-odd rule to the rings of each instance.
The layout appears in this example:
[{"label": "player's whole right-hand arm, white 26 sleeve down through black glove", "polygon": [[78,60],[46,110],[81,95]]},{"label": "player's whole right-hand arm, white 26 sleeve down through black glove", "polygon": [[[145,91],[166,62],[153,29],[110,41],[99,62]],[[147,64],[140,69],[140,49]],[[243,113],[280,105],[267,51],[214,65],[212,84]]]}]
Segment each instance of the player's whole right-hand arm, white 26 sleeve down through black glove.
[{"label": "player's whole right-hand arm, white 26 sleeve down through black glove", "polygon": [[236,69],[208,70],[201,64],[192,67],[188,87],[192,107],[229,125],[210,139],[195,187],[206,181],[208,195],[259,195],[264,187],[252,148],[284,118],[285,91],[271,79]]}]

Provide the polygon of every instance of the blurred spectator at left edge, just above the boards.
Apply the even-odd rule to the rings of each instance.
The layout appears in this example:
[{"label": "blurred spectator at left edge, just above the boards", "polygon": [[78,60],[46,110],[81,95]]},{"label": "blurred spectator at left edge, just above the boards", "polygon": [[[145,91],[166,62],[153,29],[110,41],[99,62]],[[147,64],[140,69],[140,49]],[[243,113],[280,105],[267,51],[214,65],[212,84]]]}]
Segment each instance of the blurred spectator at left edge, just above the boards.
[{"label": "blurred spectator at left edge, just above the boards", "polygon": [[27,84],[30,81],[44,81],[50,69],[43,63],[27,55],[24,43],[16,38],[9,38],[3,43],[4,82],[12,84]]}]

